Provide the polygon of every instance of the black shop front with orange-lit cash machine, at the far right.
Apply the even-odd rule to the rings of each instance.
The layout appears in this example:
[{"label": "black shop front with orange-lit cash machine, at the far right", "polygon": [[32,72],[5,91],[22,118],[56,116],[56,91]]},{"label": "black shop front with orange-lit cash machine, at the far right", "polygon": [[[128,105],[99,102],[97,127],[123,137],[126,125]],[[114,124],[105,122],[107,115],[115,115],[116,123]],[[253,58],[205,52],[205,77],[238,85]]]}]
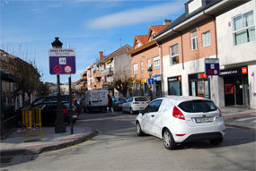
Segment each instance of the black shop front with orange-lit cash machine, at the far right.
[{"label": "black shop front with orange-lit cash machine, at the far right", "polygon": [[224,79],[225,106],[250,106],[247,66],[221,70]]}]

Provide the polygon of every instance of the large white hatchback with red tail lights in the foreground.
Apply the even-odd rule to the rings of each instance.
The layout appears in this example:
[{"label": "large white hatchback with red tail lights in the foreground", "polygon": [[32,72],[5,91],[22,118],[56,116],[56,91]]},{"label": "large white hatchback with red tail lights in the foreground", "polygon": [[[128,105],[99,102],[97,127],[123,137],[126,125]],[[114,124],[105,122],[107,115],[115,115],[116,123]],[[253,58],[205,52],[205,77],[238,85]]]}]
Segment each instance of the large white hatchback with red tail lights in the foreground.
[{"label": "large white hatchback with red tail lights in the foreground", "polygon": [[137,115],[137,135],[144,133],[163,139],[166,149],[177,143],[209,140],[220,144],[225,136],[221,111],[207,98],[169,96],[156,98]]}]

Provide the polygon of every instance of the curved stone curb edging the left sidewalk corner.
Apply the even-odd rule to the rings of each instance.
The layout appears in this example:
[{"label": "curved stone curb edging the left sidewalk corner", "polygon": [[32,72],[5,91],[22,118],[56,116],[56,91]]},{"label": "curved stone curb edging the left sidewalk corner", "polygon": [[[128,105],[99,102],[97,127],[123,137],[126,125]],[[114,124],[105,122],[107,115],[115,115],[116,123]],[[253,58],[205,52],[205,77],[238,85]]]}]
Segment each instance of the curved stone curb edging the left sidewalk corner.
[{"label": "curved stone curb edging the left sidewalk corner", "polygon": [[31,148],[31,150],[28,149],[19,149],[19,150],[1,150],[0,156],[7,157],[7,156],[17,156],[17,155],[36,155],[43,152],[51,151],[51,150],[60,150],[64,149],[66,147],[70,147],[76,144],[79,144],[81,142],[87,141],[89,139],[92,139],[94,136],[96,136],[99,132],[97,130],[94,130],[93,133],[87,134],[85,136],[82,136],[78,138],[75,141],[68,141],[65,143],[60,143],[57,145],[51,145],[51,146],[45,146],[42,148]]}]

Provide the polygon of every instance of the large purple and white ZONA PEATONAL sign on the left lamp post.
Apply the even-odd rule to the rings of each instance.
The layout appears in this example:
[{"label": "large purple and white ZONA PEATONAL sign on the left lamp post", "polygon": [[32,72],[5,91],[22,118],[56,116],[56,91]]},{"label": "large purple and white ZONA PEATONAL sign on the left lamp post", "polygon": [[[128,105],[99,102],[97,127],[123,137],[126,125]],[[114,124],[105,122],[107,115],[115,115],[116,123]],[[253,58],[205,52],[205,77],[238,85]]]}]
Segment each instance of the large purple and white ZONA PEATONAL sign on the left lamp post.
[{"label": "large purple and white ZONA PEATONAL sign on the left lamp post", "polygon": [[75,73],[75,49],[49,49],[49,73]]}]

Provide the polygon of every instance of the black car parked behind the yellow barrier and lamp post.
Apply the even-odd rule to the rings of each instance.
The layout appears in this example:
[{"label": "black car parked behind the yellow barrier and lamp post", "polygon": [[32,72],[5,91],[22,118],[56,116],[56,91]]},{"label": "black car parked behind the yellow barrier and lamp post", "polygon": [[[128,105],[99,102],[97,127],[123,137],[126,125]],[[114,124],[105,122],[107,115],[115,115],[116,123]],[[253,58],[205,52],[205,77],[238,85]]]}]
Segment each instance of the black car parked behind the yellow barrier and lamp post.
[{"label": "black car parked behind the yellow barrier and lamp post", "polygon": [[[69,115],[69,107],[70,104],[68,102],[62,102],[62,114],[64,115],[64,122],[70,123],[70,115]],[[33,104],[30,107],[40,107],[41,111],[41,124],[42,125],[49,125],[55,124],[57,118],[57,101],[45,101],[40,104]],[[19,108],[15,112],[16,116],[16,125],[21,127],[22,126],[22,110],[24,108]],[[73,124],[75,124],[76,120],[78,119],[77,109],[74,105],[72,105],[72,114],[73,114]]]}]

